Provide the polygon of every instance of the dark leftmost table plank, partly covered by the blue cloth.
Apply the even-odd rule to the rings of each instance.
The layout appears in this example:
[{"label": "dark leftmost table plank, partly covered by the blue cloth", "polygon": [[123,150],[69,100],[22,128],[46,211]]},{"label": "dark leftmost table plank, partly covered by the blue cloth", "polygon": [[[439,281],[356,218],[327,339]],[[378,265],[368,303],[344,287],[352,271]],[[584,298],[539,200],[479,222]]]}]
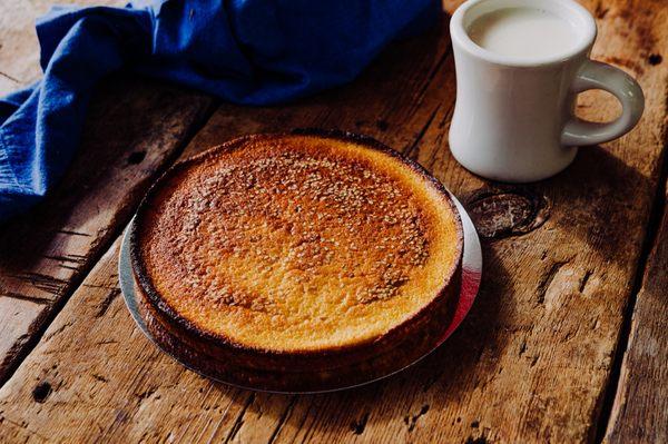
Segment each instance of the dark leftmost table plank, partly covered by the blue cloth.
[{"label": "dark leftmost table plank, partly covered by the blue cloth", "polygon": [[[0,71],[17,79],[11,89],[39,76],[32,22],[50,2],[35,3],[0,2]],[[99,89],[66,178],[35,211],[0,227],[0,384],[210,105],[146,80],[116,78]]]}]

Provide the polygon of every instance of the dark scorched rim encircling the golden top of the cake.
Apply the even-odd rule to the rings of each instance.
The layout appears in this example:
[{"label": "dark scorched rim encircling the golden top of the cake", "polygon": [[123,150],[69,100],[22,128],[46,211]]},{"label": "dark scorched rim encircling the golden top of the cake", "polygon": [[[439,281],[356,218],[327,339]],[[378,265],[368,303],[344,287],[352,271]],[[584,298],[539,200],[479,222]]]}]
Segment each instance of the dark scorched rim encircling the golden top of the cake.
[{"label": "dark scorched rim encircling the golden top of the cake", "polygon": [[[412,317],[405,319],[400,325],[394,326],[390,330],[385,332],[379,337],[366,338],[354,343],[348,343],[341,346],[334,347],[323,347],[322,349],[315,351],[282,351],[282,349],[266,349],[254,347],[248,344],[240,344],[235,342],[234,339],[220,335],[217,333],[213,333],[206,330],[193,323],[188,318],[180,315],[178,312],[173,309],[169,304],[159,295],[159,293],[155,289],[153,282],[149,277],[149,274],[146,269],[146,264],[144,262],[141,243],[138,239],[139,227],[141,226],[143,217],[147,210],[147,207],[150,205],[155,194],[158,193],[161,188],[161,185],[168,180],[173,175],[177,174],[184,168],[189,167],[193,164],[202,162],[208,158],[220,155],[222,152],[230,151],[239,146],[243,146],[249,140],[257,139],[266,139],[266,138],[276,138],[276,137],[289,137],[289,136],[314,136],[322,138],[332,138],[342,141],[350,141],[357,145],[362,145],[364,147],[373,148],[389,155],[403,165],[407,166],[414,172],[419,174],[423,179],[430,182],[432,186],[441,195],[443,201],[450,207],[452,214],[454,215],[454,224],[456,230],[456,250],[455,257],[456,260],[451,266],[451,269],[446,273],[446,279],[441,286],[441,290],[439,295],[436,295],[429,304],[423,306],[419,312],[416,312]],[[132,224],[130,226],[130,262],[132,266],[132,275],[135,277],[136,288],[140,290],[143,295],[143,299],[146,299],[150,307],[153,308],[153,316],[160,322],[160,324],[170,330],[175,336],[179,337],[185,343],[190,346],[199,349],[199,352],[205,353],[206,355],[212,356],[229,356],[229,352],[233,352],[237,356],[240,354],[242,356],[247,355],[247,359],[243,359],[243,362],[247,362],[253,365],[253,361],[257,359],[261,365],[269,365],[272,367],[283,367],[285,361],[293,359],[295,357],[302,357],[305,362],[310,362],[311,365],[316,365],[316,367],[322,367],[325,363],[334,357],[341,357],[342,359],[353,359],[360,357],[367,357],[370,352],[379,353],[387,347],[391,347],[393,343],[401,339],[405,335],[411,335],[415,333],[420,333],[420,327],[423,324],[429,324],[431,317],[433,317],[434,312],[442,312],[439,308],[441,306],[454,306],[452,299],[456,299],[459,293],[459,280],[462,267],[462,254],[463,254],[463,227],[461,223],[461,217],[459,215],[459,210],[452,200],[449,191],[445,187],[435,179],[426,169],[424,169],[420,164],[409,159],[403,156],[399,151],[385,146],[384,144],[373,139],[369,136],[362,136],[357,134],[340,131],[340,130],[324,130],[324,129],[295,129],[291,132],[277,132],[277,134],[257,134],[257,135],[248,135],[242,136],[232,140],[228,140],[222,145],[212,147],[210,149],[193,156],[188,159],[179,161],[170,167],[167,171],[165,171],[158,180],[151,185],[146,196],[141,200],[141,204],[138,207],[137,214]],[[446,310],[448,312],[448,310]],[[449,310],[453,312],[453,309]],[[446,317],[452,318],[454,313],[448,313]],[[425,320],[426,319],[426,320]],[[240,357],[240,356],[239,356]],[[324,359],[324,361],[323,361]],[[338,359],[335,359],[338,361]],[[328,363],[333,364],[332,362]],[[327,366],[330,366],[327,365]]]}]

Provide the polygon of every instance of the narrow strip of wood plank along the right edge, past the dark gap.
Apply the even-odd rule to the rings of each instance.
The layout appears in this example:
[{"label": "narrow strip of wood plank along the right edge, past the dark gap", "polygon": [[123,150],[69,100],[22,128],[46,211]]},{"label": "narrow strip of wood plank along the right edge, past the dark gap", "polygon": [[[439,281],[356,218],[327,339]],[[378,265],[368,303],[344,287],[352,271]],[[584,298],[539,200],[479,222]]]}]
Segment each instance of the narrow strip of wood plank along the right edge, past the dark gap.
[{"label": "narrow strip of wood plank along the right edge, past the dark gap", "polygon": [[607,442],[668,442],[667,288],[668,207],[665,207],[633,307],[631,333],[608,424]]}]

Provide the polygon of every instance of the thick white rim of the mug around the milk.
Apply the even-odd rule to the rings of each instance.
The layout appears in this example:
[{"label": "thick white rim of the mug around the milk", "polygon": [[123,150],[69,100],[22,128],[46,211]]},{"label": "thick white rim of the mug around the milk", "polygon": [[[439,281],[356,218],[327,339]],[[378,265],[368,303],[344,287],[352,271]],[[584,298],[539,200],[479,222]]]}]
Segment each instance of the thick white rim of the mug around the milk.
[{"label": "thick white rim of the mug around the milk", "polygon": [[[527,8],[534,9],[541,9],[541,7],[549,6],[551,9],[558,8],[564,10],[571,16],[577,14],[586,29],[583,29],[578,43],[568,52],[560,52],[557,55],[548,55],[531,59],[505,56],[478,46],[478,43],[471,39],[464,27],[466,13],[472,8],[479,7],[482,3],[500,3],[498,8],[492,8],[491,11],[512,8],[512,3],[520,7],[525,4]],[[530,3],[522,0],[468,0],[454,11],[452,18],[450,19],[450,38],[452,39],[453,45],[456,43],[473,57],[495,65],[504,65],[510,67],[540,67],[568,61],[581,53],[588,52],[593,45],[596,34],[597,28],[593,17],[584,7],[573,0],[531,0]]]}]

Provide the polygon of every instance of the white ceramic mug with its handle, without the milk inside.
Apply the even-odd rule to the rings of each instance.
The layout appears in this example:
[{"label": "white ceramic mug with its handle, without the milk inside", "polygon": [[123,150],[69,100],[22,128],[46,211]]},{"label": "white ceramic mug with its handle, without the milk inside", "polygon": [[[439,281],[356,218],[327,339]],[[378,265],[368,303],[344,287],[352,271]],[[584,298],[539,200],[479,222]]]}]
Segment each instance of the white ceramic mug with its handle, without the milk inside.
[{"label": "white ceramic mug with its handle, without the milk inside", "polygon": [[[469,37],[471,23],[505,8],[537,8],[578,27],[579,41],[564,55],[512,58],[485,50]],[[544,179],[574,159],[578,146],[616,139],[636,126],[645,98],[630,76],[588,58],[596,39],[591,14],[572,0],[469,0],[452,16],[456,103],[450,149],[466,169],[485,178]],[[611,92],[622,105],[609,124],[574,117],[576,97],[588,89]]]}]

